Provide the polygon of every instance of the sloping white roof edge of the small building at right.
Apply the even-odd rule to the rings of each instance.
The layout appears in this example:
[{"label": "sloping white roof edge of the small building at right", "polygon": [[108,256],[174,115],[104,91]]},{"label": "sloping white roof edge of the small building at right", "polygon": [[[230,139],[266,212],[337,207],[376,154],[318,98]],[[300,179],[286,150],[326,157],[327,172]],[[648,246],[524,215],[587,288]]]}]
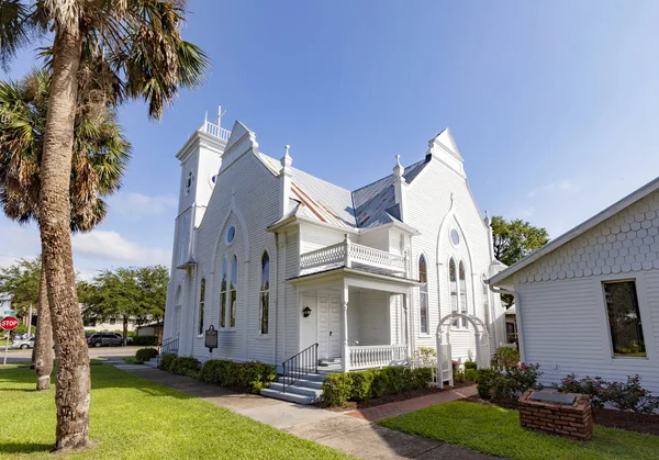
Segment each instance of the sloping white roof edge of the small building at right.
[{"label": "sloping white roof edge of the small building at right", "polygon": [[636,203],[638,200],[644,199],[645,197],[649,195],[650,193],[652,193],[657,190],[659,190],[659,177],[656,178],[655,180],[650,181],[649,183],[646,183],[640,189],[629,193],[627,197],[623,198],[622,200],[619,200],[616,203],[612,204],[611,206],[606,207],[604,211],[600,212],[599,214],[595,214],[588,221],[584,221],[581,224],[577,225],[574,228],[563,233],[558,238],[552,239],[551,242],[547,243],[545,246],[543,246],[538,250],[529,254],[522,260],[516,261],[515,263],[513,263],[505,270],[500,271],[498,274],[490,278],[490,280],[488,280],[488,282],[493,285],[500,284],[506,278],[510,278],[517,271],[522,270],[525,267],[528,267],[530,263],[535,262],[536,260],[544,257],[545,255],[558,249],[562,245],[579,237],[580,235],[584,234],[585,232],[590,231],[591,228],[593,228],[596,225],[601,224],[602,222],[606,221],[608,217],[617,214],[625,207],[630,206],[632,204]]}]

